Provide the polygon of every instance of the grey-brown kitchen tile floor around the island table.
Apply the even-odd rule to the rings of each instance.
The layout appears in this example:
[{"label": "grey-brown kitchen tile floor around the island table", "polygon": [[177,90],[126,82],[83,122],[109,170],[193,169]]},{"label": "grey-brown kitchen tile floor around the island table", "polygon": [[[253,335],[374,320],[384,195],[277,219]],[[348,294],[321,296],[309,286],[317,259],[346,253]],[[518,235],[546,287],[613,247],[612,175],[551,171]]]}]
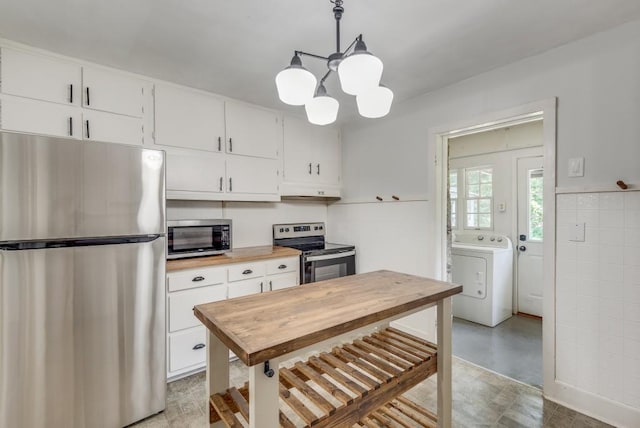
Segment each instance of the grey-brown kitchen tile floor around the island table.
[{"label": "grey-brown kitchen tile floor around the island table", "polygon": [[[247,371],[231,364],[231,383],[241,385]],[[435,376],[407,396],[435,411]],[[167,409],[134,425],[136,428],[207,427],[205,375],[199,373],[168,385]],[[544,400],[540,390],[474,364],[453,359],[453,426],[496,428],[600,428],[610,425]]]}]

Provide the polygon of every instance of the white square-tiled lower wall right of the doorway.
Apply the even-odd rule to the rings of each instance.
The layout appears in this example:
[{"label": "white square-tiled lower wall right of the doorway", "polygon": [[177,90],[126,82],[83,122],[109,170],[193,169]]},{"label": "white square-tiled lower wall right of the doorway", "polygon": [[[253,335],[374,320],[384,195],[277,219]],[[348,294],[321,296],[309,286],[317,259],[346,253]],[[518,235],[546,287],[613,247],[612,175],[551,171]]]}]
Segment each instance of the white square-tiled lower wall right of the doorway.
[{"label": "white square-tiled lower wall right of the doorway", "polygon": [[[556,376],[640,406],[640,192],[557,196]],[[569,241],[585,223],[585,242]]]}]

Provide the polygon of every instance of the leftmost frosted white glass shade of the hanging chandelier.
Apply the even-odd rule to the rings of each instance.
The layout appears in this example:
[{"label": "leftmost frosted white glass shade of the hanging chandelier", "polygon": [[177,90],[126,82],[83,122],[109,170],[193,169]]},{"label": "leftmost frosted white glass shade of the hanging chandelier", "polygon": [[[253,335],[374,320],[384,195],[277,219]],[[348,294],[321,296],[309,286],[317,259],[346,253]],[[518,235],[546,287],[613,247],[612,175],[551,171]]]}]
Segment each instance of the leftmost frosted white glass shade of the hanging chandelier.
[{"label": "leftmost frosted white glass shade of the hanging chandelier", "polygon": [[292,106],[301,106],[313,98],[317,83],[316,77],[302,66],[297,55],[291,60],[291,65],[276,76],[280,100]]}]

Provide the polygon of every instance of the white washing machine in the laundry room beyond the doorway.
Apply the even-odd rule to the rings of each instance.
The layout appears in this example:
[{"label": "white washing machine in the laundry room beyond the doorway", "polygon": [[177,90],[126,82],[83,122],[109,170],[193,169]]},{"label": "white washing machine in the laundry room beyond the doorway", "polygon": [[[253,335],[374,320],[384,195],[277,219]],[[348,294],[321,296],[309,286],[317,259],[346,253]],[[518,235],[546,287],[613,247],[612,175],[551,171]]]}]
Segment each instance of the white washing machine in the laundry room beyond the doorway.
[{"label": "white washing machine in the laundry room beyond the doorway", "polygon": [[453,282],[462,293],[453,296],[453,316],[494,327],[511,317],[513,247],[504,235],[456,234],[451,246]]}]

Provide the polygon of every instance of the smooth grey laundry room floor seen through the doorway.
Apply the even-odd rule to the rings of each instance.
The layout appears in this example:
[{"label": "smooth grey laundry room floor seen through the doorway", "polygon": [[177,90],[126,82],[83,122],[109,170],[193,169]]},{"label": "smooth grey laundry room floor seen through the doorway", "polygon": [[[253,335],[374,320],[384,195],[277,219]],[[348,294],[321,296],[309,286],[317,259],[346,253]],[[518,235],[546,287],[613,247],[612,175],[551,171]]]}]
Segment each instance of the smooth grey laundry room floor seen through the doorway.
[{"label": "smooth grey laundry room floor seen through the doorway", "polygon": [[453,319],[453,355],[542,388],[542,320],[512,316],[491,328]]}]

